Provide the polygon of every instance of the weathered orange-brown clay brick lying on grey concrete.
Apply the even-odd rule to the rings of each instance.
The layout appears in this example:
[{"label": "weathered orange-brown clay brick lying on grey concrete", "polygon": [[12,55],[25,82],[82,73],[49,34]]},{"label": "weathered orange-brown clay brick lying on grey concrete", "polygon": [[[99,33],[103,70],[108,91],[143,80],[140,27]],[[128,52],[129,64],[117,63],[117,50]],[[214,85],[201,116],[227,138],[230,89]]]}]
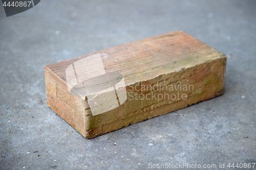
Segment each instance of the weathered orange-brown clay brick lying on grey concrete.
[{"label": "weathered orange-brown clay brick lying on grey concrete", "polygon": [[[92,55],[101,56],[106,74],[123,76],[125,102],[120,102],[124,98],[118,89],[86,96],[70,93],[67,68]],[[47,105],[84,137],[93,138],[223,94],[226,60],[224,54],[182,31],[142,39],[45,66]],[[120,106],[112,109],[104,102],[98,106],[100,98],[117,100],[118,96]],[[161,96],[166,98],[160,100]],[[101,113],[102,109],[109,111]]]}]

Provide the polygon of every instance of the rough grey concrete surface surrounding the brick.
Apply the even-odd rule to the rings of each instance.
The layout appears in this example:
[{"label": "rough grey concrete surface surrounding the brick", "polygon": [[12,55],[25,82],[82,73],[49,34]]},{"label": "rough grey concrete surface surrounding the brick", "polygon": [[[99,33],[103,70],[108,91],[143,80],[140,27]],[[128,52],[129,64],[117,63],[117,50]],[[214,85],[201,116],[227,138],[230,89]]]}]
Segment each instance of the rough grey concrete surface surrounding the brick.
[{"label": "rough grey concrete surface surrounding the brick", "polygon": [[[48,0],[6,17],[0,7],[0,169],[256,163],[255,9],[256,1]],[[228,56],[222,96],[94,139],[47,106],[45,65],[175,30]]]}]

